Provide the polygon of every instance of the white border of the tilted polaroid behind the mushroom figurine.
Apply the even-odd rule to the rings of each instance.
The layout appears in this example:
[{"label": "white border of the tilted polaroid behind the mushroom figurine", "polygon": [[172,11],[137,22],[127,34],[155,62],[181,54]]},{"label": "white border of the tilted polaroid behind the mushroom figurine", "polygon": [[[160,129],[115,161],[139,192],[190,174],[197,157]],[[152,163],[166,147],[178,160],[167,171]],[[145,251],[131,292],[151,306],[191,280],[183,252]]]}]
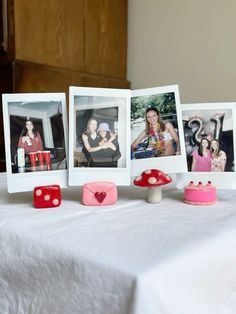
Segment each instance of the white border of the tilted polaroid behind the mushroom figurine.
[{"label": "white border of the tilted polaroid behind the mushroom figurine", "polygon": [[[174,155],[174,156],[132,159],[131,160],[132,176],[137,176],[142,171],[146,169],[150,169],[150,168],[156,168],[166,173],[177,173],[177,172],[187,171],[178,85],[154,87],[154,88],[131,91],[131,107],[132,107],[133,97],[160,95],[160,94],[166,94],[166,93],[174,93],[174,96],[175,96],[176,116],[177,116],[177,123],[178,123],[178,136],[180,140],[181,154]],[[149,105],[145,105],[145,108],[148,108],[148,107]],[[160,113],[162,114],[162,112]],[[143,119],[145,119],[145,117]],[[132,129],[131,129],[131,138],[132,138],[132,141],[136,138],[136,136],[135,137],[132,136]]]}]

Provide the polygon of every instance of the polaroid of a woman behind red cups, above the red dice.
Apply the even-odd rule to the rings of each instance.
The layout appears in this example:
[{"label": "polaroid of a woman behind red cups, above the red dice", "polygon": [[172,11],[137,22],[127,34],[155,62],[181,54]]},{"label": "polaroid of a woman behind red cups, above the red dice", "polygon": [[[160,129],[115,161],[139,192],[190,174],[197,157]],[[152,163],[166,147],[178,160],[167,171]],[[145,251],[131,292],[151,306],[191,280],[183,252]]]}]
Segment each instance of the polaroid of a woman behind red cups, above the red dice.
[{"label": "polaroid of a woman behind red cups, above the red dice", "polygon": [[67,186],[64,93],[3,94],[8,192]]}]

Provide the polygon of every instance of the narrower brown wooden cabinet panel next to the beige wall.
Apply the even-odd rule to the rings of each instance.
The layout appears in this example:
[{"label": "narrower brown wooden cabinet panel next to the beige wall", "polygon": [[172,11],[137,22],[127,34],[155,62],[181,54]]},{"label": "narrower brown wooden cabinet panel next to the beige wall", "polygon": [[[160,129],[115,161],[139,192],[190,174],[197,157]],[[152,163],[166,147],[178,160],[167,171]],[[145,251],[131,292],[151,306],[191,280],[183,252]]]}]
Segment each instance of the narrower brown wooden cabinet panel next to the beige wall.
[{"label": "narrower brown wooden cabinet panel next to the beige wall", "polygon": [[85,1],[86,72],[126,78],[127,0]]}]

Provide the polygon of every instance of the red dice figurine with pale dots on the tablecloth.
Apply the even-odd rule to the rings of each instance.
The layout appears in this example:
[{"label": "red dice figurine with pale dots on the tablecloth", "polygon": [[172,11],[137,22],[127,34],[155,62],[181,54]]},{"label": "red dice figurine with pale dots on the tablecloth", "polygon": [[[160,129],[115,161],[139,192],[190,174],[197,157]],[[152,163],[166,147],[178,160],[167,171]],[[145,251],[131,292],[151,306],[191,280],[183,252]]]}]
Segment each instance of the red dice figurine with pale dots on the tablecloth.
[{"label": "red dice figurine with pale dots on the tablecloth", "polygon": [[59,185],[42,185],[34,188],[34,206],[36,208],[57,207],[61,204]]}]

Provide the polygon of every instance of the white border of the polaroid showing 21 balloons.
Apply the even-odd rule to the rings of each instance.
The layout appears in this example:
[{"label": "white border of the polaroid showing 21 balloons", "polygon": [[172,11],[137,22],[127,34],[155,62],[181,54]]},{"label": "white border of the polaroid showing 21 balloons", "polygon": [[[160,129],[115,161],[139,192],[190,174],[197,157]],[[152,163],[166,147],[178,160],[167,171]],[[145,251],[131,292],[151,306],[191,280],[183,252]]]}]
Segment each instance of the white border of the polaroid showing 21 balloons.
[{"label": "white border of the polaroid showing 21 balloons", "polygon": [[[233,122],[233,145],[234,159],[236,157],[236,103],[235,102],[216,102],[216,103],[193,103],[182,104],[182,116],[186,110],[232,110]],[[233,172],[192,172],[179,173],[176,179],[176,187],[182,189],[189,184],[190,181],[206,183],[211,181],[214,186],[220,189],[236,189],[236,169]]]}]

